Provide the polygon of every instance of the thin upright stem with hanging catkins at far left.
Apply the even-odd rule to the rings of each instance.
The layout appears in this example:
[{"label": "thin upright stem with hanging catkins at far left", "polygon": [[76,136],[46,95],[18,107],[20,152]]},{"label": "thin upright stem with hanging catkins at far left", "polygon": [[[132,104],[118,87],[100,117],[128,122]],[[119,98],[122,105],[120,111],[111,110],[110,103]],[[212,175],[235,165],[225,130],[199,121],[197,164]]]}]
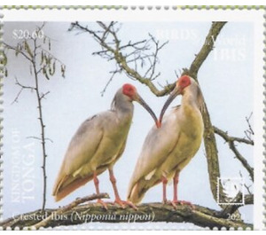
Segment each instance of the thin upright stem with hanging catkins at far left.
[{"label": "thin upright stem with hanging catkins at far left", "polygon": [[[36,27],[36,32],[40,32],[44,27],[44,23],[41,27]],[[55,58],[51,54],[51,42],[50,38],[46,35],[43,35],[43,43],[39,43],[40,38],[33,37],[32,35],[29,36],[28,39],[23,39],[20,43],[17,43],[16,46],[12,46],[10,44],[4,43],[5,51],[15,51],[15,55],[19,56],[22,55],[24,59],[26,59],[29,62],[29,71],[30,74],[33,76],[33,85],[26,86],[19,82],[17,77],[15,77],[15,83],[20,86],[20,91],[18,92],[16,98],[13,100],[13,103],[18,102],[20,95],[23,90],[32,90],[35,93],[35,97],[37,100],[37,110],[38,110],[38,120],[40,122],[41,127],[41,137],[31,137],[39,140],[42,145],[42,153],[43,153],[43,206],[42,209],[44,211],[45,204],[46,204],[46,188],[47,188],[47,174],[46,174],[46,140],[50,140],[50,138],[45,137],[45,124],[43,121],[43,98],[46,98],[46,96],[50,93],[50,91],[47,92],[41,92],[40,88],[40,77],[43,75],[47,80],[50,79],[50,76],[55,74],[56,71],[56,64],[60,60]],[[49,40],[48,42],[48,48],[43,48],[42,45],[45,44],[45,40]],[[61,66],[61,73],[64,77],[65,74],[65,65],[60,63]],[[43,74],[40,74],[43,72]],[[51,141],[52,142],[52,141]]]}]

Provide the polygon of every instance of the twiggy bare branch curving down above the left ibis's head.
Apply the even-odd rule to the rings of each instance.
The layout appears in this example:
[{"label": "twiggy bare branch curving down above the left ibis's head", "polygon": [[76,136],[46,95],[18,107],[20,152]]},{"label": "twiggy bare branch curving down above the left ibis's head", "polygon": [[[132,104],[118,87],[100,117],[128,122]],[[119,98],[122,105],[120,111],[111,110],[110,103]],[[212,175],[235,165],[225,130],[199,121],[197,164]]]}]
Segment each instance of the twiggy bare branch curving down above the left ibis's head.
[{"label": "twiggy bare branch curving down above the left ibis's head", "polygon": [[[125,74],[130,78],[137,80],[138,82],[141,82],[145,84],[146,86],[149,87],[150,90],[152,90],[153,94],[161,97],[174,88],[174,86],[167,86],[164,88],[164,90],[158,90],[156,86],[153,84],[153,80],[156,79],[160,73],[155,74],[155,67],[153,67],[154,64],[156,64],[157,61],[157,55],[158,51],[166,44],[162,43],[159,44],[158,41],[154,39],[152,36],[151,41],[155,44],[155,51],[152,54],[141,54],[138,55],[137,58],[130,60],[129,55],[134,55],[136,53],[143,53],[140,51],[145,51],[149,49],[149,44],[148,41],[142,40],[137,43],[131,43],[129,42],[128,44],[121,45],[120,40],[118,39],[116,32],[119,30],[118,29],[113,29],[115,26],[115,22],[111,22],[108,26],[106,26],[103,22],[98,22],[98,25],[103,29],[103,31],[96,31],[96,30],[91,30],[88,27],[83,27],[79,22],[74,22],[71,24],[70,30],[81,30],[82,32],[87,32],[90,35],[93,36],[93,38],[101,45],[103,48],[102,51],[95,52],[94,54],[98,54],[106,59],[115,59],[117,62],[117,65],[121,67],[121,71],[125,72]],[[112,35],[112,43],[110,41],[107,41],[108,35]],[[114,43],[114,45],[113,45]],[[139,44],[144,43],[144,45],[140,48],[136,47],[136,45],[139,46]],[[131,51],[130,54],[122,54],[121,50],[133,48],[134,51]],[[149,60],[153,58],[152,60]],[[145,72],[145,76],[139,74],[134,68],[130,67],[129,64],[130,62],[136,61],[136,59],[139,59],[142,61],[141,63],[144,63],[144,59],[147,59],[147,61],[150,61],[149,63],[151,64],[150,67],[147,68]],[[150,74],[149,74],[150,73]],[[149,74],[149,75],[148,75]]]}]

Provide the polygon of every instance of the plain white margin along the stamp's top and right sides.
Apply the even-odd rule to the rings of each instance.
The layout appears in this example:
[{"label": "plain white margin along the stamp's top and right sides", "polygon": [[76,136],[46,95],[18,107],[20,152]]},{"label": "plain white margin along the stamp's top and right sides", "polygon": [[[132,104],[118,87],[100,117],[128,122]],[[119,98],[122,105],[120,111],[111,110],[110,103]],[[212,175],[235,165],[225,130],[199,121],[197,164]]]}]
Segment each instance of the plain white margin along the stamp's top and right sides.
[{"label": "plain white margin along the stamp's top and right sides", "polygon": [[[60,7],[59,7],[60,8]],[[52,9],[52,10],[51,10]],[[216,10],[215,10],[216,9]],[[138,7],[129,7],[127,9],[119,9],[119,10],[82,10],[82,9],[54,9],[52,6],[50,9],[35,9],[35,10],[9,10],[9,9],[2,9],[0,10],[0,19],[1,16],[4,16],[5,21],[18,21],[18,20],[49,20],[49,21],[72,21],[72,20],[98,20],[98,19],[105,19],[105,20],[123,20],[123,21],[130,21],[130,20],[146,20],[146,21],[153,21],[158,19],[158,14],[161,16],[161,20],[168,21],[168,20],[182,20],[184,19],[184,16],[186,16],[186,20],[188,21],[194,21],[195,18],[197,18],[198,21],[206,21],[206,20],[234,20],[234,21],[242,21],[245,20],[251,20],[254,22],[255,28],[254,28],[254,35],[255,35],[255,41],[257,42],[263,42],[263,39],[265,36],[262,35],[262,32],[265,32],[265,28],[263,27],[262,22],[265,22],[265,15],[263,15],[264,11],[262,8],[257,7],[257,10],[239,10],[239,9],[220,9],[218,6],[215,9],[195,9],[195,7],[191,7],[191,10],[184,9],[182,7],[180,8],[161,8],[160,11],[151,11],[147,7],[138,9]],[[67,20],[65,17],[65,12],[67,11]],[[90,16],[88,16],[88,11],[90,11]],[[108,11],[108,15],[105,14],[105,12]],[[224,12],[230,12],[234,11],[234,14],[224,14]],[[42,14],[40,13],[42,12]],[[113,12],[113,13],[112,13]],[[261,13],[259,13],[261,12]],[[145,19],[143,18],[143,15],[145,15]],[[113,18],[114,16],[114,18]],[[192,17],[193,16],[193,17]],[[199,16],[199,17],[197,17]],[[264,18],[263,18],[264,17]],[[126,20],[125,20],[126,19]],[[1,21],[0,21],[1,24]],[[1,34],[1,32],[0,32]],[[1,37],[1,35],[0,35]],[[1,43],[1,42],[0,42]],[[259,44],[256,44],[257,48],[254,50],[255,55],[254,58],[257,59],[257,61],[254,61],[256,63],[256,70],[255,70],[255,77],[262,77],[262,74],[264,74],[263,70],[263,56],[264,53],[262,51],[261,46]],[[1,48],[0,48],[1,50]],[[0,74],[0,80],[2,80],[3,74]],[[254,156],[261,156],[262,153],[265,154],[264,148],[263,148],[263,138],[264,136],[264,130],[262,129],[263,124],[263,104],[262,100],[264,100],[263,96],[263,79],[257,79],[254,82],[254,130],[256,135],[254,136]],[[2,84],[1,84],[2,87]],[[1,109],[2,110],[2,109]],[[1,120],[2,122],[2,120]],[[2,136],[1,136],[2,137]],[[259,157],[258,157],[259,158]],[[2,161],[1,161],[2,162]],[[3,170],[3,164],[0,162],[0,171]],[[263,173],[263,156],[258,161],[254,161],[254,209],[256,213],[254,213],[254,229],[262,229],[264,228],[265,218],[263,217],[263,203],[265,203],[265,195],[263,190],[263,185],[265,180],[265,173]],[[264,168],[265,171],[265,168]],[[2,178],[0,177],[0,180]],[[263,179],[263,180],[262,180]],[[1,184],[3,184],[3,180],[1,180]],[[3,187],[0,185],[0,190],[3,192]],[[3,203],[2,195],[0,192],[0,203]],[[0,206],[1,207],[1,206]],[[2,208],[0,208],[0,217],[1,217]],[[131,225],[131,224],[130,224]],[[89,226],[90,227],[90,226]],[[93,227],[93,226],[92,226]],[[95,228],[95,227],[94,227]]]}]

